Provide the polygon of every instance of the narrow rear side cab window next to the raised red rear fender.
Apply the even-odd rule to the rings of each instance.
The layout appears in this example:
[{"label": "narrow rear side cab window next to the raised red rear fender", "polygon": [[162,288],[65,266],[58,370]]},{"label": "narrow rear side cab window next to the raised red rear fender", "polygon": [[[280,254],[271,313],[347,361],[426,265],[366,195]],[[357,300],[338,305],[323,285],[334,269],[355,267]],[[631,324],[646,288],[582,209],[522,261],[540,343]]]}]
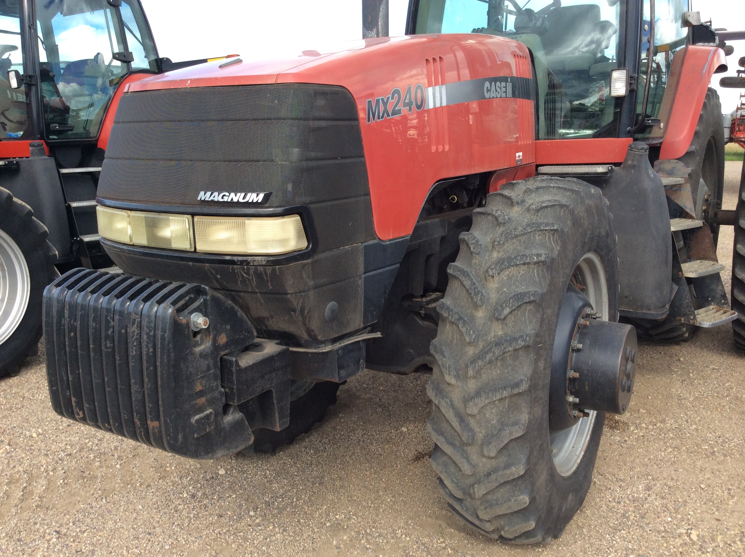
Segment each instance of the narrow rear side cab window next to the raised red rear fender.
[{"label": "narrow rear side cab window next to the raised red rear fender", "polygon": [[[650,91],[647,98],[646,118],[659,119],[662,125],[646,128],[637,134],[638,139],[660,139],[665,136],[665,125],[670,118],[677,88],[679,69],[685,57],[688,28],[680,25],[682,14],[688,10],[688,0],[655,1],[655,36]],[[644,0],[642,22],[641,66],[639,69],[639,94],[636,115],[641,116],[644,87],[647,82],[647,53],[650,37],[650,3]]]}]

